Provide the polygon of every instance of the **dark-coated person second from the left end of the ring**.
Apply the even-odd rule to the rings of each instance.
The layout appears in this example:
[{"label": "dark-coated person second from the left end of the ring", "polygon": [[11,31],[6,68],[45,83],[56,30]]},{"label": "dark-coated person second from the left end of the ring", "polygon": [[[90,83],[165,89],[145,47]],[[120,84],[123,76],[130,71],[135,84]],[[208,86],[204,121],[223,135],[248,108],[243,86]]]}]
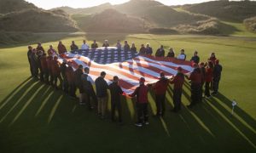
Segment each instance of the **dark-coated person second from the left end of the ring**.
[{"label": "dark-coated person second from the left end of the ring", "polygon": [[38,79],[38,69],[39,69],[39,65],[38,65],[38,55],[37,55],[37,50],[35,48],[32,49],[32,54],[30,54],[30,61],[31,61],[31,65],[32,65],[32,77],[34,77],[35,79]]}]

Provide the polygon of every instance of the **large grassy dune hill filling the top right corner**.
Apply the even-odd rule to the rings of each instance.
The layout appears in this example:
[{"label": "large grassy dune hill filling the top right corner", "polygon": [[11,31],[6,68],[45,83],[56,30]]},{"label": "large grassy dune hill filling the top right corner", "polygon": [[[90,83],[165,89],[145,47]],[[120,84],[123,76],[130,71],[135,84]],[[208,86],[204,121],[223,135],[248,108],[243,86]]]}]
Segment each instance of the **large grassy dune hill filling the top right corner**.
[{"label": "large grassy dune hill filling the top right corner", "polygon": [[196,14],[207,14],[220,20],[242,22],[256,15],[256,2],[253,1],[212,1],[184,5],[184,9]]}]

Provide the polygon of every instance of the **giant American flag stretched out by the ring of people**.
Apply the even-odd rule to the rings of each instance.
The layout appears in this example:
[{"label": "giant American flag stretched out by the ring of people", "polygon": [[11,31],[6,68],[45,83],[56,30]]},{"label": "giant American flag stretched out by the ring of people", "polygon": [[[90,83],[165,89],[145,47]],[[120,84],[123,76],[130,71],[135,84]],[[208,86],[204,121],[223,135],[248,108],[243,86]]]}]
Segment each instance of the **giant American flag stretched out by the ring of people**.
[{"label": "giant American flag stretched out by the ring of people", "polygon": [[193,71],[189,61],[140,55],[115,47],[73,50],[62,54],[61,58],[71,62],[73,69],[79,65],[90,67],[90,77],[94,80],[102,71],[107,73],[105,80],[108,83],[112,82],[114,76],[118,76],[119,85],[125,94],[131,94],[137,88],[141,77],[145,78],[146,84],[151,84],[159,80],[160,71],[165,72],[167,78],[177,74],[178,66],[183,68],[183,73]]}]

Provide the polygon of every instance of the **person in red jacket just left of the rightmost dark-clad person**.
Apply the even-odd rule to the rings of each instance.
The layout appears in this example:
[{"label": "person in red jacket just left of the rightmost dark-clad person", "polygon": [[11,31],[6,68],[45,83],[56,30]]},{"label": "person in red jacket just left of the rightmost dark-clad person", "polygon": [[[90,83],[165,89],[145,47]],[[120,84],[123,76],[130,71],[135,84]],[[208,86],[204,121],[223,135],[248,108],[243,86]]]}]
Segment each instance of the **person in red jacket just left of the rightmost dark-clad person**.
[{"label": "person in red jacket just left of the rightmost dark-clad person", "polygon": [[207,67],[206,67],[206,85],[205,85],[205,96],[206,98],[210,98],[210,83],[212,82],[212,71],[213,71],[213,64],[212,61],[207,62]]}]

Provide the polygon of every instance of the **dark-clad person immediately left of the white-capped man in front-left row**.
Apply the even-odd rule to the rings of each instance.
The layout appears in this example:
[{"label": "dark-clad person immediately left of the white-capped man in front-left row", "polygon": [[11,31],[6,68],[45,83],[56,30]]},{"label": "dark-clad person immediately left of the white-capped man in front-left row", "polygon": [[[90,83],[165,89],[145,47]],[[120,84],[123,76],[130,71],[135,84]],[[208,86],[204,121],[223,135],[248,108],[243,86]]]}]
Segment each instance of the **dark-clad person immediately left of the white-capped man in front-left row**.
[{"label": "dark-clad person immediately left of the white-capped man in front-left row", "polygon": [[79,68],[74,71],[74,78],[75,78],[75,91],[79,88],[79,104],[85,105],[85,97],[84,97],[84,88],[81,80],[81,76],[84,74],[83,72],[83,65],[79,65]]}]

